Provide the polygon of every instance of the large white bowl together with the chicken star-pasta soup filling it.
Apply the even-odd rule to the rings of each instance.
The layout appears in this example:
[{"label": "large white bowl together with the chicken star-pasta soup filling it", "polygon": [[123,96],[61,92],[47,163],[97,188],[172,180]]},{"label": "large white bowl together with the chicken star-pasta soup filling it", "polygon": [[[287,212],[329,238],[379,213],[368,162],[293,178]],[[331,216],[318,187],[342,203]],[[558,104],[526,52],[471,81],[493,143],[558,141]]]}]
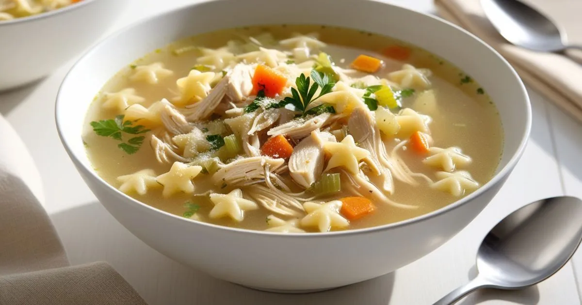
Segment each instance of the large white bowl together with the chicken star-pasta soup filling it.
[{"label": "large white bowl together with the chicken star-pasta soup filling it", "polygon": [[[326,289],[431,252],[495,195],[531,120],[497,53],[384,3],[358,1],[375,19],[254,2],[127,28],[63,81],[65,148],[133,234],[228,281]],[[234,18],[257,8],[286,14]]]}]

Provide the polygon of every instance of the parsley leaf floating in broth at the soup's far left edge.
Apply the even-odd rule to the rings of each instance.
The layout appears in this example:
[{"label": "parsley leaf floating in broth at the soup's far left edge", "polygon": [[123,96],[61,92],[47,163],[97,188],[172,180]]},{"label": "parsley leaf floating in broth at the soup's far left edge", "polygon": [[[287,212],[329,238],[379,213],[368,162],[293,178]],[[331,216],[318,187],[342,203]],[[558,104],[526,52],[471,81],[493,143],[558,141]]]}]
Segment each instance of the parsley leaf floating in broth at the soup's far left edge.
[{"label": "parsley leaf floating in broth at the soup's far left edge", "polygon": [[[143,125],[133,126],[134,121],[123,120],[123,114],[116,116],[115,119],[92,121],[91,127],[93,132],[101,137],[109,137],[117,141],[123,141],[122,132],[126,134],[138,135],[150,131],[145,129]],[[118,148],[126,152],[128,155],[136,153],[141,144],[143,144],[145,137],[143,135],[132,137],[127,142],[119,143]]]}]

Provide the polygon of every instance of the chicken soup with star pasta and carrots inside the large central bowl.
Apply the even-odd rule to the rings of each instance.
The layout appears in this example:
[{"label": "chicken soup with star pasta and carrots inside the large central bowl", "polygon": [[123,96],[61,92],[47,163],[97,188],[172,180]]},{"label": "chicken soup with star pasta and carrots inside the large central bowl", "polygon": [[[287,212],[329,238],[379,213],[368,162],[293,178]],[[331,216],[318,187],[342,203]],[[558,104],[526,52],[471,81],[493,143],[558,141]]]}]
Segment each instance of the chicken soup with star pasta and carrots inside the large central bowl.
[{"label": "chicken soup with star pasta and carrots inside the large central bowl", "polygon": [[83,133],[98,174],[196,221],[275,232],[395,223],[485,184],[494,104],[428,52],[346,28],[221,30],[111,78]]}]

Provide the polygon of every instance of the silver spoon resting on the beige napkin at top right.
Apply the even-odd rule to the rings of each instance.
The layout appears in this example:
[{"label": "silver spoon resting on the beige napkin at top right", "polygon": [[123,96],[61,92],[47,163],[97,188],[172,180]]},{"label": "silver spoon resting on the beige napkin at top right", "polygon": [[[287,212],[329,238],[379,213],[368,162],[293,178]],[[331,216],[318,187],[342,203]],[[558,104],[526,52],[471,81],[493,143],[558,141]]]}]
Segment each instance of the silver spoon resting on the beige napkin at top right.
[{"label": "silver spoon resting on the beige napkin at top right", "polygon": [[481,7],[499,33],[514,45],[541,52],[582,49],[582,45],[568,45],[563,28],[519,0],[481,0]]}]

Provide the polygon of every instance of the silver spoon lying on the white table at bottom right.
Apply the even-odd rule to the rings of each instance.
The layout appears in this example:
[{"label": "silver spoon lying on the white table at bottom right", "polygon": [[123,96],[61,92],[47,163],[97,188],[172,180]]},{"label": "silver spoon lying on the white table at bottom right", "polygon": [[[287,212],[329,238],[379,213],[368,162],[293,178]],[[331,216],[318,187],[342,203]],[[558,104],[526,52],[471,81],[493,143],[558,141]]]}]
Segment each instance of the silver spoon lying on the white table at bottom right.
[{"label": "silver spoon lying on the white table at bottom right", "polygon": [[582,200],[543,199],[503,218],[477,252],[479,274],[438,300],[454,304],[480,288],[520,289],[551,277],[567,263],[582,240]]}]

